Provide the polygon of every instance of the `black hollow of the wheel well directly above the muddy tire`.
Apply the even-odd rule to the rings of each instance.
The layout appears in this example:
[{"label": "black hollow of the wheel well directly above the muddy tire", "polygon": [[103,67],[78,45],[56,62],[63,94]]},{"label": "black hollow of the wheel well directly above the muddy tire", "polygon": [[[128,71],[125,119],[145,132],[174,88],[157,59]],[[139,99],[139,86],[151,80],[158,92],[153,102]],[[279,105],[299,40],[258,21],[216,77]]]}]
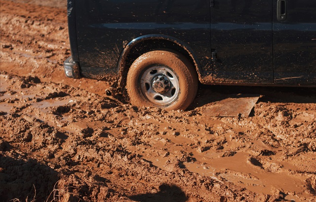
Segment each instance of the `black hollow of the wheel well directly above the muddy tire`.
[{"label": "black hollow of the wheel well directly above the muddy tire", "polygon": [[122,68],[121,72],[121,81],[120,87],[122,89],[126,85],[126,77],[129,70],[129,67],[133,64],[133,62],[144,53],[149,51],[158,50],[158,49],[171,49],[174,50],[183,56],[185,56],[197,70],[197,62],[193,59],[192,54],[181,44],[178,44],[174,41],[166,40],[166,39],[147,39],[135,44],[131,50],[127,53],[125,57],[125,65]]}]

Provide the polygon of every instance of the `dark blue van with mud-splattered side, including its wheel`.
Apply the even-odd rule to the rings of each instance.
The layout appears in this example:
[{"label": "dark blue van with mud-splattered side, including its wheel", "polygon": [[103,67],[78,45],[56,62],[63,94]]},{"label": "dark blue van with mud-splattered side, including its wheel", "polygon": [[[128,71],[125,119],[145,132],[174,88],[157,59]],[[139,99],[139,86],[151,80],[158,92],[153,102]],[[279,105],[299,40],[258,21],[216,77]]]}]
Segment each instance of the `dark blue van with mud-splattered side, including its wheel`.
[{"label": "dark blue van with mud-splattered side, including its wheel", "polygon": [[136,106],[198,83],[316,86],[315,0],[68,0],[68,77],[118,78]]}]

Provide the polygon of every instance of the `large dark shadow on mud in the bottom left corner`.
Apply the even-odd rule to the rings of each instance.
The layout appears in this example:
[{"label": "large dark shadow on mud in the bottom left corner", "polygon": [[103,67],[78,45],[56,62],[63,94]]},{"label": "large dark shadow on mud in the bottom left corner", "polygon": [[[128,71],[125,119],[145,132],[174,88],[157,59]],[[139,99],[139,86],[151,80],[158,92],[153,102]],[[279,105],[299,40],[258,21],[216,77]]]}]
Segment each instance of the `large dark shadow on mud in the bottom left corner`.
[{"label": "large dark shadow on mud in the bottom left corner", "polygon": [[51,201],[47,197],[58,179],[57,171],[34,159],[17,160],[0,154],[0,202]]}]

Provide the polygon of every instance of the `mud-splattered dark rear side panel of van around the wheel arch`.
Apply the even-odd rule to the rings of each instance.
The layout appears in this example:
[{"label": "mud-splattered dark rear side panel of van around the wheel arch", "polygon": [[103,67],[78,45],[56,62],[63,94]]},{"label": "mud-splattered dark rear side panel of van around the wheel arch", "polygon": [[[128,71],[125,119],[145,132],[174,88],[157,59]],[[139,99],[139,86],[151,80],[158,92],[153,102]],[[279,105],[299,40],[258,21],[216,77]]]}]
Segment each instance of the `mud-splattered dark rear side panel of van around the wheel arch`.
[{"label": "mud-splattered dark rear side panel of van around the wheel arch", "polygon": [[116,72],[124,46],[147,34],[178,38],[212,73],[207,0],[77,0],[76,27],[81,73]]}]

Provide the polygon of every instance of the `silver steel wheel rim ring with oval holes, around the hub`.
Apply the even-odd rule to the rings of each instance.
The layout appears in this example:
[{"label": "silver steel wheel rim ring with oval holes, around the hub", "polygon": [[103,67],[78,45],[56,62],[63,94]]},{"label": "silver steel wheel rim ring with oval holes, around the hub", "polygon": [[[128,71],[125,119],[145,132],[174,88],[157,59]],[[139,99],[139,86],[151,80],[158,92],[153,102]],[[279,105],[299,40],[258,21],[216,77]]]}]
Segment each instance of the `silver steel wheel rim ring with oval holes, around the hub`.
[{"label": "silver steel wheel rim ring with oval holes, around the hub", "polygon": [[[159,75],[163,75],[170,81],[170,89],[164,94],[156,92],[153,88],[153,79]],[[178,76],[171,68],[163,66],[149,67],[141,76],[140,87],[148,101],[160,106],[175,101],[180,92]]]}]

